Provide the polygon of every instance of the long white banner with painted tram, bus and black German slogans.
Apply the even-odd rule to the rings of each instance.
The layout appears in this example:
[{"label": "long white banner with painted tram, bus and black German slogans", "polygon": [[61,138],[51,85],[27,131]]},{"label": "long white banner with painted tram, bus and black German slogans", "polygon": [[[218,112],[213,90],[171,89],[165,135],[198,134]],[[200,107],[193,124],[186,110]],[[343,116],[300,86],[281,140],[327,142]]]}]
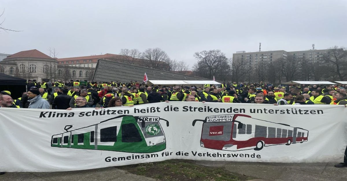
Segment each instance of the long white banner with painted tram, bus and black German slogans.
[{"label": "long white banner with painted tram, bus and black German slogans", "polygon": [[162,102],[0,108],[0,171],[71,171],[169,159],[340,162],[344,106]]}]

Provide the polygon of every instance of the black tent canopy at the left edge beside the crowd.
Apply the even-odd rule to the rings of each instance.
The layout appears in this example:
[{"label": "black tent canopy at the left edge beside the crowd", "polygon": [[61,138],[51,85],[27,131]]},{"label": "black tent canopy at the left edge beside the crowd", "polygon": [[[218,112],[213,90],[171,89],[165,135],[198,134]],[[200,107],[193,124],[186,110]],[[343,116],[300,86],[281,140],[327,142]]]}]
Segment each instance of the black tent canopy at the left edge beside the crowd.
[{"label": "black tent canopy at the left edge beside the crowd", "polygon": [[0,73],[0,91],[4,90],[10,91],[13,99],[22,97],[22,92],[26,91],[26,80]]}]

